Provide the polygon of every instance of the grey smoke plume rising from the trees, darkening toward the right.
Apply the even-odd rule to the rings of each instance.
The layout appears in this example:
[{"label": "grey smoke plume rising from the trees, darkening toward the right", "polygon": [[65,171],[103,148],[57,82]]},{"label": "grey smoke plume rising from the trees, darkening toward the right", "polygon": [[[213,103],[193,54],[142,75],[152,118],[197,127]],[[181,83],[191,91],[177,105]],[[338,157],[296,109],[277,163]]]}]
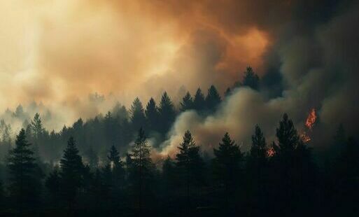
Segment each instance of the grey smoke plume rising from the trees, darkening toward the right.
[{"label": "grey smoke plume rising from the trees, darkening toward the right", "polygon": [[[283,113],[288,113],[302,131],[311,108],[316,108],[320,120],[316,132],[321,139],[316,140],[317,146],[330,144],[330,135],[340,123],[349,134],[358,135],[359,43],[355,38],[359,31],[350,25],[359,21],[358,3],[318,6],[298,3],[296,10],[307,13],[292,17],[290,23],[281,27],[274,24],[277,39],[263,59],[268,71],[274,67],[281,74],[281,79],[273,81],[283,86],[278,97],[267,99],[268,88],[262,83],[260,92],[237,89],[212,116],[200,118],[194,111],[182,113],[169,132],[169,139],[162,144],[162,154],[176,152],[185,130],[195,135],[204,151],[218,146],[225,132],[230,132],[246,151],[255,125],[260,125],[271,141]],[[316,17],[314,10],[323,14]]]}]

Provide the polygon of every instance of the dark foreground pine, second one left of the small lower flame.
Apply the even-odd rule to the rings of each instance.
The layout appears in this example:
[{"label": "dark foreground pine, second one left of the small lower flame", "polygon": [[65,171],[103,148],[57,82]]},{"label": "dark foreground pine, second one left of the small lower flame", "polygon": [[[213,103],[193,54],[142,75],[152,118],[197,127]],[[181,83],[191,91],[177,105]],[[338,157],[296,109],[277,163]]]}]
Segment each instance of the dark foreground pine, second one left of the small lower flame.
[{"label": "dark foreground pine, second one left of the small lower flame", "polygon": [[218,149],[213,148],[215,172],[220,183],[225,186],[225,202],[228,205],[229,197],[235,192],[234,187],[241,175],[241,162],[243,154],[237,144],[232,141],[227,132],[219,144]]}]

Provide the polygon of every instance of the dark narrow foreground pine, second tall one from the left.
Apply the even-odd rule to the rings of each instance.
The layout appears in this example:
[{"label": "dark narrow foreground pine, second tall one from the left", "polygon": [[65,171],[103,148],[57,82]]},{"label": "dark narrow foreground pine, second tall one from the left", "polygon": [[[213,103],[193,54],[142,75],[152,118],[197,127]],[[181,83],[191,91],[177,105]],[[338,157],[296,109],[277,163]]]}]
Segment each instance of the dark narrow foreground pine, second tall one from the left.
[{"label": "dark narrow foreground pine, second tall one from the left", "polygon": [[60,160],[60,176],[61,176],[61,188],[62,194],[66,202],[68,202],[68,208],[71,210],[73,203],[78,195],[78,190],[83,184],[83,171],[84,165],[80,155],[78,155],[78,149],[76,148],[75,140],[70,137],[67,142],[67,147],[64,150],[64,155]]}]

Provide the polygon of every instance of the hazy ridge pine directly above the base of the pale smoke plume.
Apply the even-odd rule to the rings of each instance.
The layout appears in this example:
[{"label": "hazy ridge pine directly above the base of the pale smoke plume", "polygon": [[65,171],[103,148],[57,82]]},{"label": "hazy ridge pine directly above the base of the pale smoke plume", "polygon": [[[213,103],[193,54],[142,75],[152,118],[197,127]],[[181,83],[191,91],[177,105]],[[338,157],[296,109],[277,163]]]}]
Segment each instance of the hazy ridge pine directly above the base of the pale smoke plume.
[{"label": "hazy ridge pine directly above the base of the pale smoke plume", "polygon": [[176,118],[174,104],[172,104],[171,99],[169,99],[167,92],[162,94],[160,108],[158,111],[160,112],[160,132],[164,134],[169,131],[171,125],[174,123],[174,119]]}]

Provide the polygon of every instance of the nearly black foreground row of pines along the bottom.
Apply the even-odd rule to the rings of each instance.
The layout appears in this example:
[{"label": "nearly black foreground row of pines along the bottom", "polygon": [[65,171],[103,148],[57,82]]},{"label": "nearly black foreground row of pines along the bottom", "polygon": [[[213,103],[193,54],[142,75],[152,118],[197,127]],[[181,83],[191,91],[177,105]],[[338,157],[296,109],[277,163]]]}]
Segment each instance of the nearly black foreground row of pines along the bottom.
[{"label": "nearly black foreground row of pines along the bottom", "polygon": [[[187,131],[178,152],[155,165],[140,128],[121,158],[111,146],[103,165],[90,167],[69,137],[58,166],[45,176],[27,141],[17,134],[8,153],[8,181],[1,185],[3,214],[297,216],[358,214],[359,146],[339,128],[343,146],[331,164],[318,167],[311,149],[286,114],[267,144],[255,127],[248,153],[225,133],[213,158]],[[31,148],[32,146],[32,148]],[[269,149],[273,153],[269,154]]]}]

